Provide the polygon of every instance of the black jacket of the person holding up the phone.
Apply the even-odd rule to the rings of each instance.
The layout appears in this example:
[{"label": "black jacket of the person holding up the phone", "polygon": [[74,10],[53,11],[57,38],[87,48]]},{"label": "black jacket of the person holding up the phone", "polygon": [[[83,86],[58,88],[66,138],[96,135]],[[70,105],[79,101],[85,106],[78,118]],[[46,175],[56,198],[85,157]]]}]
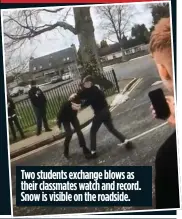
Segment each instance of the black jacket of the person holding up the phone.
[{"label": "black jacket of the person holding up the phone", "polygon": [[157,152],[155,168],[156,208],[179,208],[176,132]]}]

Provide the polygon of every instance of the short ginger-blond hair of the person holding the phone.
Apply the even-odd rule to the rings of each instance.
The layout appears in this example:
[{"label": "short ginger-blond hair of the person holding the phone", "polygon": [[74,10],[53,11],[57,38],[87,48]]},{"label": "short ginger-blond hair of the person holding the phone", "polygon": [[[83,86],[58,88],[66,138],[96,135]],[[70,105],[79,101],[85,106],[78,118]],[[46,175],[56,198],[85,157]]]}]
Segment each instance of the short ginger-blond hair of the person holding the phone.
[{"label": "short ginger-blond hair of the person holding the phone", "polygon": [[162,18],[151,34],[149,49],[151,53],[171,50],[170,18]]}]

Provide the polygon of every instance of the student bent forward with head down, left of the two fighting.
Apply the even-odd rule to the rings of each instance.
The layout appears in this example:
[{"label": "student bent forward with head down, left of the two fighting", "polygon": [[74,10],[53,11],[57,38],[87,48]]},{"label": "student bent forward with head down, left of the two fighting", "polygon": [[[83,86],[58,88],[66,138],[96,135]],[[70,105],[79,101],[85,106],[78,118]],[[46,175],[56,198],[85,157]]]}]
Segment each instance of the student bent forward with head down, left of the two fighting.
[{"label": "student bent forward with head down, left of the two fighting", "polygon": [[78,96],[70,96],[70,100],[65,101],[59,110],[58,116],[57,116],[57,125],[60,128],[61,125],[63,125],[66,133],[66,138],[64,141],[64,156],[66,158],[69,158],[69,144],[73,135],[73,131],[71,129],[71,125],[74,127],[80,147],[83,149],[83,153],[85,157],[87,158],[88,155],[90,155],[90,151],[86,147],[86,142],[83,136],[83,133],[81,131],[80,123],[77,118],[77,112],[80,109],[80,100]]}]

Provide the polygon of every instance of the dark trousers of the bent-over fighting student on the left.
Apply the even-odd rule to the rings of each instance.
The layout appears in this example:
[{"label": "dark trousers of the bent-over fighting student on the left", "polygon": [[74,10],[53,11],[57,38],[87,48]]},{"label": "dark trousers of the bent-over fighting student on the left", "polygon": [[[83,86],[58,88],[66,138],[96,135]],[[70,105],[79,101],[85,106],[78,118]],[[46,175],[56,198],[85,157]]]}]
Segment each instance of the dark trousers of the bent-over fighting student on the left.
[{"label": "dark trousers of the bent-over fighting student on the left", "polygon": [[64,121],[63,122],[63,126],[64,126],[65,133],[66,133],[66,138],[64,141],[64,149],[65,149],[66,153],[69,153],[69,144],[70,144],[70,141],[71,141],[72,135],[73,135],[73,131],[71,129],[71,124],[73,125],[73,128],[75,129],[75,132],[77,133],[80,147],[82,147],[83,149],[86,148],[86,142],[85,142],[83,133],[81,131],[80,123],[79,123],[78,118],[76,117],[76,118],[72,119],[71,121]]}]

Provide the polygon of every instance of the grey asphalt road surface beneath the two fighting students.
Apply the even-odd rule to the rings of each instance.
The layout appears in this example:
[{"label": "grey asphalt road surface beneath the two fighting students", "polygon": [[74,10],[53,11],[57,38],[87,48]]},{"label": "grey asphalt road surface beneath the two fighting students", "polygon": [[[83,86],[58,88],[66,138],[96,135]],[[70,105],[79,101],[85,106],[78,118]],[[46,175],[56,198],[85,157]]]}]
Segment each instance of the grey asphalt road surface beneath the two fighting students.
[{"label": "grey asphalt road surface beneath the two fighting students", "polygon": [[[148,56],[115,66],[118,79],[126,77],[142,77],[142,82],[129,94],[129,100],[112,111],[113,124],[127,138],[133,140],[134,148],[127,150],[117,146],[118,140],[102,126],[97,135],[97,151],[99,157],[86,160],[73,137],[70,145],[71,159],[63,156],[63,140],[54,142],[11,161],[12,192],[16,195],[16,166],[154,166],[155,155],[160,145],[172,133],[164,121],[154,120],[150,112],[148,92],[162,85],[151,86],[159,81],[156,68]],[[90,126],[83,130],[89,146]],[[153,168],[153,180],[155,176]],[[153,186],[154,191],[154,186]],[[154,208],[154,204],[151,208]],[[16,207],[15,216],[46,215],[64,213],[85,213],[103,211],[123,211],[144,209],[142,207],[105,207],[105,208],[63,208],[63,207]],[[148,209],[148,208],[147,208]]]}]

